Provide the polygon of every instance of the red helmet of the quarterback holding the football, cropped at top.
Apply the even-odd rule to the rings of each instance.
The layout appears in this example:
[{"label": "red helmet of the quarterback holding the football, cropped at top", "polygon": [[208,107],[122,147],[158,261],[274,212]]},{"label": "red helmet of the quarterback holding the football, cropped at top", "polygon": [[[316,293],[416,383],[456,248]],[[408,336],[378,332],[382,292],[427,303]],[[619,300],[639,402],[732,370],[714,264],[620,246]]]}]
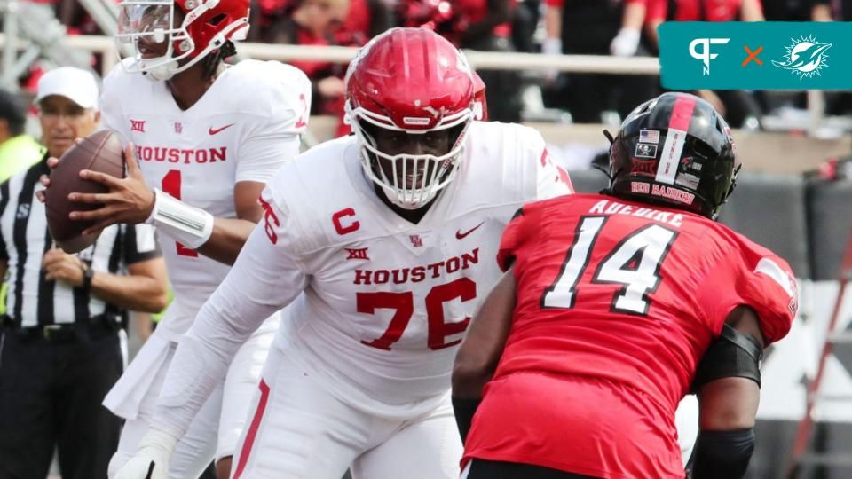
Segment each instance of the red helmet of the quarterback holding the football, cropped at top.
[{"label": "red helmet of the quarterback holding the football, cropped at top", "polygon": [[154,80],[168,80],[226,41],[245,40],[248,4],[249,0],[122,0],[115,42],[119,52],[132,52],[122,66]]}]

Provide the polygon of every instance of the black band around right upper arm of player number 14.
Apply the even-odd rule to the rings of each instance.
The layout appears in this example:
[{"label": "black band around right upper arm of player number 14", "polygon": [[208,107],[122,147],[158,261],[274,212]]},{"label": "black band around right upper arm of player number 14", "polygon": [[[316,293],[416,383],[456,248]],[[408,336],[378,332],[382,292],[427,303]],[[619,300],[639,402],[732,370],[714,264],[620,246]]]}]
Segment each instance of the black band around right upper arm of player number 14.
[{"label": "black band around right upper arm of player number 14", "polygon": [[691,392],[697,393],[710,381],[722,378],[746,378],[761,385],[763,349],[751,334],[740,333],[728,325],[710,344],[698,364]]}]

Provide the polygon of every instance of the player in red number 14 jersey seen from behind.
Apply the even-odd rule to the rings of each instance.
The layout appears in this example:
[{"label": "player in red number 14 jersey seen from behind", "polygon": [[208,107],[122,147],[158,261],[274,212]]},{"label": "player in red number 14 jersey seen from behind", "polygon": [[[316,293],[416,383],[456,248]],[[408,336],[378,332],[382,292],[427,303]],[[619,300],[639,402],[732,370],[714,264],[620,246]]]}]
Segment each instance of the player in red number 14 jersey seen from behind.
[{"label": "player in red number 14 jersey seen from behind", "polygon": [[706,101],[664,94],[611,139],[605,194],[526,205],[503,233],[509,271],[454,365],[462,477],[683,477],[675,406],[690,391],[693,477],[746,471],[793,272],[714,221],[738,166]]}]

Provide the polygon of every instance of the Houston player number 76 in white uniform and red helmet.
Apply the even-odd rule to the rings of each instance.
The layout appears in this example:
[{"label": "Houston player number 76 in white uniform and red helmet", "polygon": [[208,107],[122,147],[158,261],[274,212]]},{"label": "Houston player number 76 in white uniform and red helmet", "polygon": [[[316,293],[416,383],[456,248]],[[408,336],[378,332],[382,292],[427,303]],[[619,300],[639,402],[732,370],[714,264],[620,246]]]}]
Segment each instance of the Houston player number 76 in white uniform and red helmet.
[{"label": "Houston player number 76 in white uniform and red helmet", "polygon": [[430,30],[377,36],[346,89],[355,135],[267,185],[265,222],[181,340],[122,479],[165,477],[175,438],[231,357],[290,302],[232,476],[458,477],[455,350],[500,277],[503,227],[571,184],[537,131],[474,121],[475,76]]}]

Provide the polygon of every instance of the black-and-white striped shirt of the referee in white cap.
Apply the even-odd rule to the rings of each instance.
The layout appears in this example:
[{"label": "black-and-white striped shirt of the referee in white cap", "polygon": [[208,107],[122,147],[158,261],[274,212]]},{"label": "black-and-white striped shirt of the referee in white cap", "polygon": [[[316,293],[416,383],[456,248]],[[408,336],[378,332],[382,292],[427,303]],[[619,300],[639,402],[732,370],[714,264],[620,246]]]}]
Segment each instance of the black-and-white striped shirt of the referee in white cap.
[{"label": "black-and-white striped shirt of the referee in white cap", "polygon": [[[42,256],[53,246],[44,205],[36,199],[48,174],[47,155],[0,185],[0,258],[7,262],[6,314],[22,327],[69,324],[105,312],[125,311],[81,287],[44,279]],[[114,224],[77,255],[93,271],[121,274],[128,264],[160,256],[154,227]]]}]

